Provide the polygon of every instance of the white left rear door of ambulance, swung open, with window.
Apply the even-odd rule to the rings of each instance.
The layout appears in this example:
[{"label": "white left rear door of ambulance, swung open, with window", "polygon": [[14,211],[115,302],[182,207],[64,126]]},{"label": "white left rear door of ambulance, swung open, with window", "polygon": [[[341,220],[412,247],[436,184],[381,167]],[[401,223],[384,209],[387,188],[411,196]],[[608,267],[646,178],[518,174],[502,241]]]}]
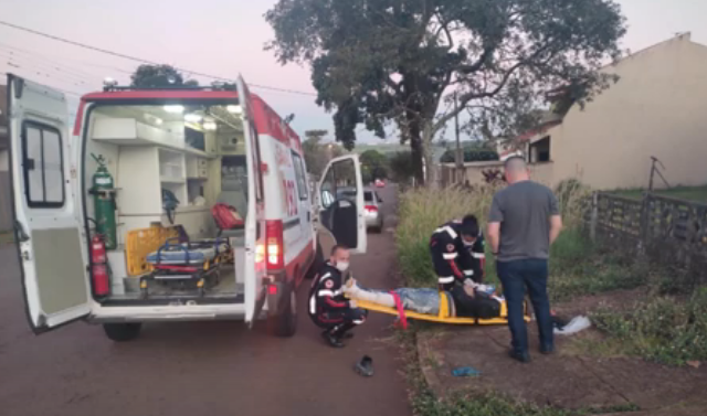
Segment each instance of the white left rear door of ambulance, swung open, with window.
[{"label": "white left rear door of ambulance, swung open, with window", "polygon": [[70,181],[66,98],[8,75],[14,234],[30,326],[43,332],[91,310],[84,238]]}]

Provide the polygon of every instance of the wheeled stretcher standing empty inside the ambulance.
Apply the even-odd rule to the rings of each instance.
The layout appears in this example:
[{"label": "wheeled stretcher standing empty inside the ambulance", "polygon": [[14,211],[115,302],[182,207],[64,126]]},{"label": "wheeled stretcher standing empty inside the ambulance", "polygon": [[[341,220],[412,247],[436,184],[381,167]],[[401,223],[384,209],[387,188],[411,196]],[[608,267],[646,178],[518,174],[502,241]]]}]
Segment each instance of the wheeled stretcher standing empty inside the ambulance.
[{"label": "wheeled stretcher standing empty inside the ambulance", "polygon": [[209,284],[218,285],[221,265],[228,262],[231,253],[228,238],[182,242],[183,238],[169,238],[146,256],[150,273],[140,277],[140,294],[149,297],[150,280],[177,282],[182,287],[193,284],[203,296]]}]

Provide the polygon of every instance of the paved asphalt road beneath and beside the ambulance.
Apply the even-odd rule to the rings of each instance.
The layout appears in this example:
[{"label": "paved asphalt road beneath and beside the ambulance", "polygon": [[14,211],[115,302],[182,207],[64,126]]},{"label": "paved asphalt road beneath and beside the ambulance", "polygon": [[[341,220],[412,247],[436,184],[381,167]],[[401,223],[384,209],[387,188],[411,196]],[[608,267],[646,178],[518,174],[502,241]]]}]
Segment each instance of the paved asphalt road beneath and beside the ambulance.
[{"label": "paved asphalt road beneath and beside the ambulance", "polygon": [[[393,190],[383,190],[387,211]],[[355,257],[357,278],[391,287],[392,235],[369,235]],[[15,254],[0,248],[0,414],[126,415],[409,415],[401,363],[389,342],[390,317],[374,314],[346,349],[325,346],[305,314],[292,339],[247,331],[239,322],[149,324],[139,340],[116,344],[99,327],[73,323],[35,337],[20,296]],[[376,375],[351,371],[362,354]]]}]

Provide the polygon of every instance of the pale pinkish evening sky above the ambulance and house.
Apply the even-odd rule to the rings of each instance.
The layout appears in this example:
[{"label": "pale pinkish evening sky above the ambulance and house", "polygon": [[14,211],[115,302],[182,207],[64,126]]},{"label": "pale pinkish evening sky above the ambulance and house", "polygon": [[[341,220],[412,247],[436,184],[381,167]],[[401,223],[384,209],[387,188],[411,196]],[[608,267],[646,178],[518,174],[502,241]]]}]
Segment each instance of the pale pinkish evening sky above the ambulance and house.
[{"label": "pale pinkish evening sky above the ambulance and house", "polygon": [[[705,0],[615,0],[627,18],[623,47],[637,52],[676,33],[707,44]],[[309,68],[282,66],[264,44],[273,31],[263,14],[275,0],[0,0],[0,21],[149,61],[215,76],[242,74],[252,92],[292,126],[334,132],[331,115],[315,104]],[[0,73],[12,72],[64,89],[73,103],[105,77],[129,83],[138,63],[0,25]],[[189,73],[187,73],[189,75]],[[193,76],[202,84],[211,79]],[[271,86],[306,94],[275,92]],[[362,142],[380,139],[359,128]],[[395,142],[395,138],[388,142]]]}]

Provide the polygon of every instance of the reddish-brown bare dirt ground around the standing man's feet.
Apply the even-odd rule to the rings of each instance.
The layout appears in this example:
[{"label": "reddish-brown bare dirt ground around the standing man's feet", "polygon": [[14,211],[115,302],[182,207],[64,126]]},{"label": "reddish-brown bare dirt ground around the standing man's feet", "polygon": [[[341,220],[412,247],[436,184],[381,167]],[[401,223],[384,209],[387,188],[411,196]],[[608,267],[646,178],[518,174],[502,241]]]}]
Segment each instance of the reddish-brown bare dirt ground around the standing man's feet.
[{"label": "reddish-brown bare dirt ground around the standing man's feet", "polygon": [[[583,297],[556,309],[574,316],[600,305],[620,308],[639,295],[633,290]],[[528,329],[532,356],[529,364],[508,358],[510,333],[506,327],[437,327],[422,331],[418,345],[425,377],[442,396],[463,391],[571,409],[635,405],[641,415],[707,414],[707,366],[676,369],[634,358],[577,356],[563,351],[569,350],[566,346],[570,337],[592,337],[592,330],[557,337],[558,353],[545,356],[537,352],[535,322]],[[472,366],[481,375],[455,377],[452,370],[457,366]]]}]

